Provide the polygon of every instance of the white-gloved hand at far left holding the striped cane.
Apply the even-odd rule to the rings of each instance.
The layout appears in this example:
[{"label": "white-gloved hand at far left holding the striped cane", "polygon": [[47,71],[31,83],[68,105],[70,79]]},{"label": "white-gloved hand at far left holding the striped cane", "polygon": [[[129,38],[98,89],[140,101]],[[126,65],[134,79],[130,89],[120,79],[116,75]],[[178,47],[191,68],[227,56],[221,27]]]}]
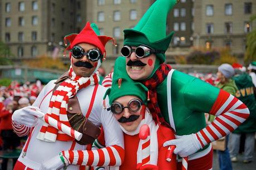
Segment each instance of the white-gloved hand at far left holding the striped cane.
[{"label": "white-gloved hand at far left holding the striped cane", "polygon": [[16,124],[24,124],[28,127],[33,127],[38,122],[38,117],[42,116],[40,108],[35,106],[27,106],[21,109],[18,109],[12,114],[12,121]]}]

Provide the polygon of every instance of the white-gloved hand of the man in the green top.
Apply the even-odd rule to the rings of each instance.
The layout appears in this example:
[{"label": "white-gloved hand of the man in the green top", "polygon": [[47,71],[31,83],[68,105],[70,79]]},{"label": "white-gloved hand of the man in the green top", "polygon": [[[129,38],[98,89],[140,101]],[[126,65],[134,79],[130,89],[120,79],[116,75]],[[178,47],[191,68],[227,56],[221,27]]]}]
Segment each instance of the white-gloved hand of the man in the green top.
[{"label": "white-gloved hand of the man in the green top", "polygon": [[170,145],[175,145],[176,148],[174,149],[174,153],[179,154],[180,157],[189,156],[198,151],[199,149],[203,148],[201,147],[201,144],[198,141],[195,133],[183,136],[176,135],[175,137],[176,139],[166,141],[163,146],[166,147]]}]

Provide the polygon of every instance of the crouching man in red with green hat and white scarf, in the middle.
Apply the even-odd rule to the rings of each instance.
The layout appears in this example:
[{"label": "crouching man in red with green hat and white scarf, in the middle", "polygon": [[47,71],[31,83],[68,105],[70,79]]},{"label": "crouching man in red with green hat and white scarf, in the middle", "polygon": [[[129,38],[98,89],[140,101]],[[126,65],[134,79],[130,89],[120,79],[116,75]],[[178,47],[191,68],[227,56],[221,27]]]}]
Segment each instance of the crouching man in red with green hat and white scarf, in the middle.
[{"label": "crouching man in red with green hat and white scarf, in the middle", "polygon": [[[152,114],[146,107],[147,88],[132,81],[128,74],[120,72],[118,67],[122,66],[116,61],[113,83],[105,97],[109,96],[110,107],[107,109],[115,115],[124,132],[125,159],[119,169],[175,170],[176,155],[170,153],[171,161],[166,161],[169,147],[163,147],[165,141],[175,138],[174,131],[152,119]],[[150,137],[145,141],[140,139],[140,128],[144,124],[149,126],[150,132]],[[93,147],[100,147],[99,143],[104,144],[103,134],[93,143]]]}]

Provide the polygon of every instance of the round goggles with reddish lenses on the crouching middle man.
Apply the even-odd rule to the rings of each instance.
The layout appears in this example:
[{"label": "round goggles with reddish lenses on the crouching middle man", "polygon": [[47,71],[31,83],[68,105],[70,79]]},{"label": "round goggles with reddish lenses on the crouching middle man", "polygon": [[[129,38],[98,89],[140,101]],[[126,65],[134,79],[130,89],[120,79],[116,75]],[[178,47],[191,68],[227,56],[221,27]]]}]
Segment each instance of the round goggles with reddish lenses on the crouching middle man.
[{"label": "round goggles with reddish lenses on the crouching middle man", "polygon": [[131,112],[137,112],[139,111],[141,105],[142,102],[139,99],[131,99],[131,101],[128,103],[126,107],[124,107],[124,105],[122,105],[119,102],[113,102],[110,108],[107,108],[107,110],[111,110],[111,112],[114,114],[122,113],[122,111],[124,111],[125,108],[128,108]]}]

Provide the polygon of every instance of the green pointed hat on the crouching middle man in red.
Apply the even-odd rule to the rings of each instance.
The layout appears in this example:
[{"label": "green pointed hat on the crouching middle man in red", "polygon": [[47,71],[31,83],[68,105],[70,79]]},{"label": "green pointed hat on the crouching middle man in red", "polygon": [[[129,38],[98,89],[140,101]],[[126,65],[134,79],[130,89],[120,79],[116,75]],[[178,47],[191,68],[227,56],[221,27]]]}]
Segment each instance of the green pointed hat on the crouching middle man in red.
[{"label": "green pointed hat on the crouching middle man in red", "polygon": [[120,64],[122,57],[116,59],[113,81],[111,88],[107,89],[104,99],[109,96],[109,103],[112,104],[117,98],[122,96],[137,96],[144,104],[147,103],[148,89],[139,82],[134,82]]}]

